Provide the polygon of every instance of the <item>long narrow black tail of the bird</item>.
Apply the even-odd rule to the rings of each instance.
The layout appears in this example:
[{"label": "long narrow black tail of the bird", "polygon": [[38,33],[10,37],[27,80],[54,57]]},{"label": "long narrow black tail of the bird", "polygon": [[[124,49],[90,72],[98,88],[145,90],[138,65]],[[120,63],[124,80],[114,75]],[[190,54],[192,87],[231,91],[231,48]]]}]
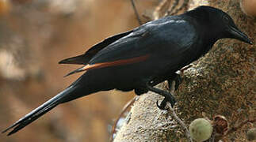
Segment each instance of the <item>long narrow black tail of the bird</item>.
[{"label": "long narrow black tail of the bird", "polygon": [[13,133],[17,133],[20,129],[23,129],[26,125],[29,125],[32,121],[35,121],[40,116],[46,114],[49,110],[52,110],[54,107],[58,106],[59,103],[67,102],[67,99],[70,98],[72,92],[76,89],[75,86],[70,86],[66,88],[63,92],[60,92],[58,95],[55,95],[52,99],[48,100],[40,107],[37,107],[35,110],[32,110],[29,114],[26,114],[23,118],[16,121],[13,125],[8,127],[2,133],[6,133],[8,130],[12,129],[7,136],[10,136]]}]

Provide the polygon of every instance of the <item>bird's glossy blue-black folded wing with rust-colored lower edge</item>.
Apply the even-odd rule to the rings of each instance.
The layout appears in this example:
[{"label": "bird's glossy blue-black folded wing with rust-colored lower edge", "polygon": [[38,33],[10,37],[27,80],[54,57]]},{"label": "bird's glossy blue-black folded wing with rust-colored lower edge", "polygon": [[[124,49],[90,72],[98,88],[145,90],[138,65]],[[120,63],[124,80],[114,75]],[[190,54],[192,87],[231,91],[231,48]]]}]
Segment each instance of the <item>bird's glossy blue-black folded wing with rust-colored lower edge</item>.
[{"label": "bird's glossy blue-black folded wing with rust-colored lower edge", "polygon": [[185,21],[169,19],[144,24],[101,50],[97,50],[97,47],[88,50],[86,53],[94,54],[90,61],[86,62],[88,65],[68,73],[67,76],[89,69],[128,65],[146,60],[154,62],[159,58],[169,61],[175,54],[189,47],[188,43],[191,43],[193,34],[186,32],[190,27]]}]

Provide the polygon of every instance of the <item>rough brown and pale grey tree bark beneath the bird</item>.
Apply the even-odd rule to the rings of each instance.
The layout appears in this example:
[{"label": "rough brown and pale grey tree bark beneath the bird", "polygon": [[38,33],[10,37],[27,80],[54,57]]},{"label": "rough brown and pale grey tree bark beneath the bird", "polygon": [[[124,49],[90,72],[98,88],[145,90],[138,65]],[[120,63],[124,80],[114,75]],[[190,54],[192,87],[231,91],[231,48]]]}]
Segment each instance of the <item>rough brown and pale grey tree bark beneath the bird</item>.
[{"label": "rough brown and pale grey tree bark beneath the bird", "polygon": [[[208,1],[223,9],[254,43],[255,19],[246,17],[239,1]],[[224,115],[230,126],[255,118],[255,44],[250,46],[235,39],[222,39],[196,65],[185,70],[183,82],[176,92],[178,116],[189,125],[195,118],[212,119]],[[164,84],[159,85],[164,88]],[[162,99],[148,92],[134,103],[129,121],[122,126],[114,141],[185,141],[181,126],[165,110],[156,107]],[[246,141],[244,125],[224,137],[224,141]]]}]

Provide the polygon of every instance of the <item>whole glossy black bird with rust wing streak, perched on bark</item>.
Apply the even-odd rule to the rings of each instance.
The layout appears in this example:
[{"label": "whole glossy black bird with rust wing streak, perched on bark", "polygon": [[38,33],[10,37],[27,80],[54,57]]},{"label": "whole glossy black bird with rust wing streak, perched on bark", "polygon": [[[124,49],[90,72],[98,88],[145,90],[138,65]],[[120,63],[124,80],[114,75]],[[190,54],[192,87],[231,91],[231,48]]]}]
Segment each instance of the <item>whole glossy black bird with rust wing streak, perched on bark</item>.
[{"label": "whole glossy black bird with rust wing streak, perched on bark", "polygon": [[81,71],[86,73],[2,133],[9,129],[12,131],[8,135],[16,133],[61,103],[111,89],[135,90],[137,95],[156,92],[165,97],[158,106],[160,109],[166,106],[166,102],[174,105],[174,96],[154,88],[155,84],[174,79],[178,69],[201,58],[218,39],[223,38],[252,44],[227,13],[210,6],[163,17],[109,37],[85,54],[59,62],[85,65],[68,75]]}]

